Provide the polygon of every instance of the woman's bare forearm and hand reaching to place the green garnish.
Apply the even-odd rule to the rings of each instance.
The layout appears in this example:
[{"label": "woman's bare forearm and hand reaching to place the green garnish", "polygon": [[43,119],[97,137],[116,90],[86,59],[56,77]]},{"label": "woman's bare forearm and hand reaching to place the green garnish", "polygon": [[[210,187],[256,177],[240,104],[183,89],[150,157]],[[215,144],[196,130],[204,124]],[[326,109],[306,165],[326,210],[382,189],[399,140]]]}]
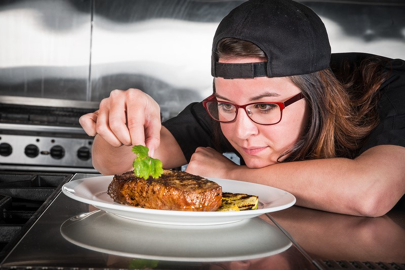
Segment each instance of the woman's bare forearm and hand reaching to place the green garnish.
[{"label": "woman's bare forearm and hand reaching to place the green garnish", "polygon": [[79,119],[84,130],[95,136],[93,166],[103,174],[120,174],[132,169],[133,145],[146,145],[149,155],[165,168],[186,163],[172,134],[160,123],[159,105],[139,89],[114,90],[94,113]]}]

